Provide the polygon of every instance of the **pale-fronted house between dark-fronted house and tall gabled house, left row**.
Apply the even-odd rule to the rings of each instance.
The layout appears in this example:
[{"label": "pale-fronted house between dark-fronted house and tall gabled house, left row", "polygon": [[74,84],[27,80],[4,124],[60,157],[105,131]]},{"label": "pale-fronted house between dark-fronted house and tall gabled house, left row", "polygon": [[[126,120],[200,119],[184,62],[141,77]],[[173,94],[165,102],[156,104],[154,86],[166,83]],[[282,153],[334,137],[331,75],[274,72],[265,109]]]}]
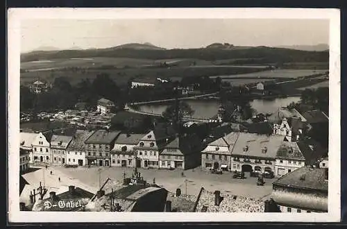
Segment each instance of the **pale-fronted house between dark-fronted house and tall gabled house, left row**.
[{"label": "pale-fronted house between dark-fronted house and tall gabled house, left row", "polygon": [[111,151],[112,167],[135,167],[134,147],[145,134],[121,133]]}]

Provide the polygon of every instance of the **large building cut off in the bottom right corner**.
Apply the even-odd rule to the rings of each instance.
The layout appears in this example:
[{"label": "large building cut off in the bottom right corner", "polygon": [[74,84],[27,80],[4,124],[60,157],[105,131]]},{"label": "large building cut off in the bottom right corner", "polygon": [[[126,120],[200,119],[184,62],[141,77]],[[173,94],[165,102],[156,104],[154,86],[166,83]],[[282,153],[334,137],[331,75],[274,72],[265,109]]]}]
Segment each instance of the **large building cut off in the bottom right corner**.
[{"label": "large building cut off in the bottom right corner", "polygon": [[273,183],[271,198],[281,212],[328,212],[328,168],[305,166]]}]

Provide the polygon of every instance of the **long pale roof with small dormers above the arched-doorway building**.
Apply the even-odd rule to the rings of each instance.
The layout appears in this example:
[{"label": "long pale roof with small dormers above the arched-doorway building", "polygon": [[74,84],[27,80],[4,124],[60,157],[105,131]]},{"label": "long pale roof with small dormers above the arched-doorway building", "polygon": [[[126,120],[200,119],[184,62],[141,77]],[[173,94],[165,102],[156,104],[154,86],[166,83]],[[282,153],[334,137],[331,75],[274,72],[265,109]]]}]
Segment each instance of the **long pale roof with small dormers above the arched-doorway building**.
[{"label": "long pale roof with small dormers above the arched-doorway building", "polygon": [[[276,154],[282,145],[285,136],[282,135],[257,135],[255,133],[239,133],[237,141],[231,154],[246,155],[263,158],[276,158]],[[244,148],[248,146],[248,150],[244,152]],[[265,149],[266,153],[262,153]]]}]

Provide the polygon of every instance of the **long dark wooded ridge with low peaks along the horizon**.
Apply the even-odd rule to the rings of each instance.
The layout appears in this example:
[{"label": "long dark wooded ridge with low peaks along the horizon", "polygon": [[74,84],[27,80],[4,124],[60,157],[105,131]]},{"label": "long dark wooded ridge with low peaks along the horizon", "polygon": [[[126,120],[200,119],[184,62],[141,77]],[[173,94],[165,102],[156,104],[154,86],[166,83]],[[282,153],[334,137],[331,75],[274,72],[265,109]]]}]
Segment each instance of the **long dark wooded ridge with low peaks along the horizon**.
[{"label": "long dark wooded ridge with low peaks along the horizon", "polygon": [[[218,46],[218,45],[217,45]],[[230,45],[228,46],[230,47]],[[248,47],[238,49],[162,49],[151,44],[124,44],[108,49],[40,51],[40,53],[23,53],[21,62],[34,60],[52,60],[65,58],[135,58],[149,60],[164,59],[199,59],[199,60],[226,60],[235,58],[259,59],[262,62],[328,62],[327,51],[300,51],[294,49],[271,48],[266,46]]]}]

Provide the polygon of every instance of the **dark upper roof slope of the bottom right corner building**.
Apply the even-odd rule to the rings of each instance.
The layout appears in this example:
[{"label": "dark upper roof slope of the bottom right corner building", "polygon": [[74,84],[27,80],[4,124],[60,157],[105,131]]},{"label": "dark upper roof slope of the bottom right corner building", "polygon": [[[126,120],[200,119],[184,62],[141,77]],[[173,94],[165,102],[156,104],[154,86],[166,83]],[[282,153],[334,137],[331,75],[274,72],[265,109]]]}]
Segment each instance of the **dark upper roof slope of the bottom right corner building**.
[{"label": "dark upper roof slope of the bottom right corner building", "polygon": [[325,180],[325,169],[311,168],[310,166],[301,167],[291,173],[287,173],[276,180],[273,185],[328,192],[328,180]]}]

